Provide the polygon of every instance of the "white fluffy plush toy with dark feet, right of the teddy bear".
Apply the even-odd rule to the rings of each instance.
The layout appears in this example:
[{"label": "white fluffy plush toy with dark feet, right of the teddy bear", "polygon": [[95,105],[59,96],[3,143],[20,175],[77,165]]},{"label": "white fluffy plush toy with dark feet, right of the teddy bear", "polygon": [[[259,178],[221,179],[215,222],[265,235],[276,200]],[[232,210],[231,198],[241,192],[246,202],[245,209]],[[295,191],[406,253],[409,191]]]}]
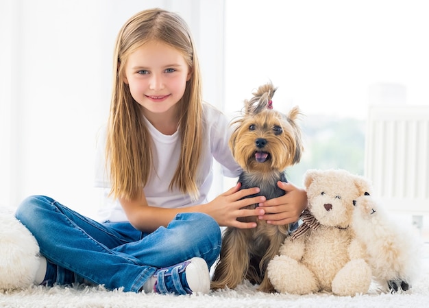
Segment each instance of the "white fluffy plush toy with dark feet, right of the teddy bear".
[{"label": "white fluffy plush toy with dark feet, right of the teddy bear", "polygon": [[386,292],[407,291],[421,270],[421,243],[404,222],[395,223],[369,193],[354,201],[352,228],[365,244],[373,279]]}]

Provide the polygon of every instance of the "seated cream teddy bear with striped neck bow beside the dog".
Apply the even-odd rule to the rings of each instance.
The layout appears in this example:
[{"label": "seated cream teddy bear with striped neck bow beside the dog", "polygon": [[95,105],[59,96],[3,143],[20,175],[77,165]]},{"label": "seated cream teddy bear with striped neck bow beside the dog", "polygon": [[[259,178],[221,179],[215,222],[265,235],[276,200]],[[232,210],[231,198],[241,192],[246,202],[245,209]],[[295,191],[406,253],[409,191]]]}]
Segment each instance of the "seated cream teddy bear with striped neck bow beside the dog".
[{"label": "seated cream teddy bear with striped neck bow beside the dog", "polygon": [[355,237],[353,200],[369,191],[360,176],[345,170],[308,170],[304,175],[308,210],[302,224],[284,240],[268,276],[280,293],[332,292],[354,296],[368,292],[371,268]]}]

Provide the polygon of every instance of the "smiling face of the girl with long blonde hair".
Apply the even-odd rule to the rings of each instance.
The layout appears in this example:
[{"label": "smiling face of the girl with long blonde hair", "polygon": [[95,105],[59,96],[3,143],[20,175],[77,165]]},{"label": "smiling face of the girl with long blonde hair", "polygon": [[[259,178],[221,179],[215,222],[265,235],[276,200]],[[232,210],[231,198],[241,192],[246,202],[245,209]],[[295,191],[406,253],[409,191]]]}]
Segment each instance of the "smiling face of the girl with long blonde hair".
[{"label": "smiling face of the girl with long blonde hair", "polygon": [[124,82],[136,102],[145,108],[145,115],[173,110],[190,78],[182,53],[156,40],[138,47],[125,62]]}]

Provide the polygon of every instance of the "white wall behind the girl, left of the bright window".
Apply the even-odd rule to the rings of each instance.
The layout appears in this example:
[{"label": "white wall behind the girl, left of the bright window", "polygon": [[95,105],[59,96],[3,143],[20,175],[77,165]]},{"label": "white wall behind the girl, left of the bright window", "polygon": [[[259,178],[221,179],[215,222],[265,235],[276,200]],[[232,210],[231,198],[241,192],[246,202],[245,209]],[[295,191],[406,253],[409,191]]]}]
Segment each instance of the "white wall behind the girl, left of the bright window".
[{"label": "white wall behind the girl, left of the bright window", "polygon": [[108,118],[114,40],[130,16],[152,7],[186,19],[204,97],[221,108],[222,0],[0,2],[0,206],[45,194],[95,214],[95,141]]}]

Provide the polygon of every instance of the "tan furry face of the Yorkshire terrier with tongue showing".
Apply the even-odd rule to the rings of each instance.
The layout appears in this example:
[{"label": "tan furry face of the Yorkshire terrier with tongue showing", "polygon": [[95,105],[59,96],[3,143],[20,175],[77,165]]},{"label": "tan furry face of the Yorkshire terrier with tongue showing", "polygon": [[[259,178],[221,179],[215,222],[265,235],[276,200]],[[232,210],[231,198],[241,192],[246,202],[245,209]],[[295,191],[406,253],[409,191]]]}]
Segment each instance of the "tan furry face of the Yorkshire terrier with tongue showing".
[{"label": "tan furry face of the Yorkshire terrier with tongue showing", "polygon": [[297,107],[288,115],[266,108],[246,112],[230,139],[237,163],[248,172],[283,171],[298,163],[302,153],[301,131],[295,123]]}]

